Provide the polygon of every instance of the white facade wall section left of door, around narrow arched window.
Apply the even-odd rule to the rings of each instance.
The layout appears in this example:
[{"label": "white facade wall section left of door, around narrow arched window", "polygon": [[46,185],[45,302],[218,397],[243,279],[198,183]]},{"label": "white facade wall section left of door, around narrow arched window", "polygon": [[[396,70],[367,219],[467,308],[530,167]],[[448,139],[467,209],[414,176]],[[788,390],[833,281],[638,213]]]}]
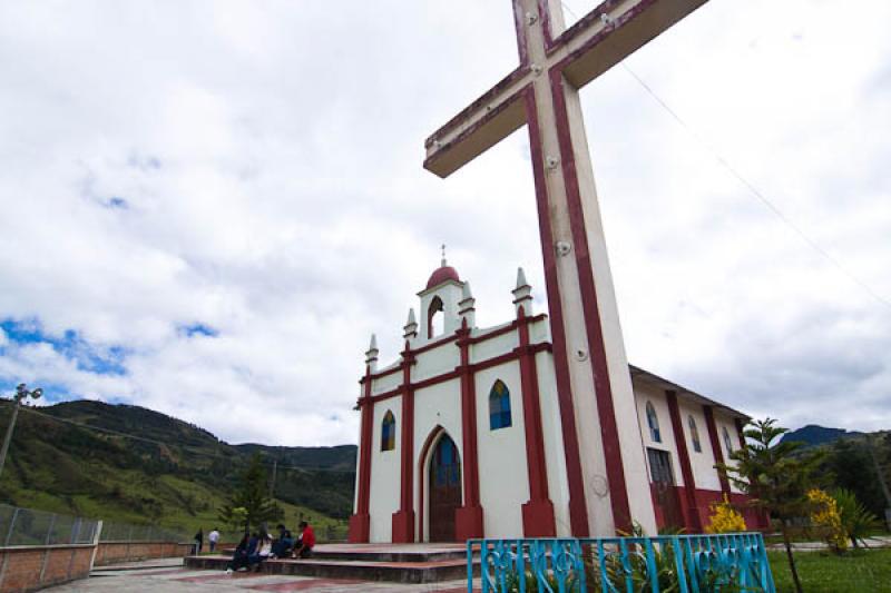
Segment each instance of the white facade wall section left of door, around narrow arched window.
[{"label": "white facade wall section left of door, around narrow arched window", "polygon": [[[381,428],[386,412],[396,421],[395,448],[381,451]],[[399,510],[400,452],[402,451],[402,396],[391,397],[374,405],[374,422],[371,439],[371,497],[369,505],[370,541],[392,540],[392,516]]]}]

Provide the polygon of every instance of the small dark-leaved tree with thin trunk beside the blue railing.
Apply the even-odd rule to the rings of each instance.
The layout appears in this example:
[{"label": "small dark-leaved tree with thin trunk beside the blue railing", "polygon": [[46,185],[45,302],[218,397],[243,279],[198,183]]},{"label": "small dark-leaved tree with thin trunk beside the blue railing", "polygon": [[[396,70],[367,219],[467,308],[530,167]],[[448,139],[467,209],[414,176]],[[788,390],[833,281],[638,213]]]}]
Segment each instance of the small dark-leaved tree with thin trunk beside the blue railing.
[{"label": "small dark-leaved tree with thin trunk beside the blue railing", "polygon": [[780,441],[789,428],[781,428],[775,424],[776,421],[772,418],[746,424],[743,432],[745,446],[730,455],[736,463],[718,464],[718,468],[726,472],[727,477],[752,497],[753,506],[766,511],[777,520],[792,580],[795,590],[801,593],[789,527],[793,518],[810,514],[807,491],[823,453],[804,451],[804,443]]}]

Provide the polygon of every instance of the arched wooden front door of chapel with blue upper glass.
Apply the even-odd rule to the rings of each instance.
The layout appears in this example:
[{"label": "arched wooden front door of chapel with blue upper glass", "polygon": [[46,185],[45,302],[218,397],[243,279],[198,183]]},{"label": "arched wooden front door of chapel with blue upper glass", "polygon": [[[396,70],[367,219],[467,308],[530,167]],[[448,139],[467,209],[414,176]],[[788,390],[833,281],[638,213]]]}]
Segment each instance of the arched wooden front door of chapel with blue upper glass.
[{"label": "arched wooden front door of chapel with blue upper glass", "polygon": [[461,506],[461,459],[458,447],[443,434],[430,456],[430,541],[454,541],[454,513]]}]

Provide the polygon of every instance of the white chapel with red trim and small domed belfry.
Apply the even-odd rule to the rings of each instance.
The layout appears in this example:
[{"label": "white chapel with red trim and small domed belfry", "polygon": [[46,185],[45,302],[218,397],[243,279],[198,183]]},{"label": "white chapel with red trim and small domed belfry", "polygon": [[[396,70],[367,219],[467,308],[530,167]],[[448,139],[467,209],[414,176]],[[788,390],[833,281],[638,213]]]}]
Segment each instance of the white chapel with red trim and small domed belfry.
[{"label": "white chapel with red trim and small domed belfry", "polygon": [[[570,501],[567,471],[585,455],[577,435],[597,425],[577,402],[559,397],[550,324],[532,310],[521,268],[511,294],[512,319],[477,327],[470,284],[443,258],[418,293],[419,313],[409,312],[404,348],[393,363],[379,364],[372,337],[358,402],[351,542],[598,532],[597,525],[572,527],[574,504],[584,510],[591,501]],[[620,428],[639,435],[647,476],[627,484],[648,483],[649,492],[627,495],[645,501],[637,508],[652,508],[639,517],[645,527],[702,532],[711,503],[724,495],[745,500],[714,464],[741,446],[747,416],[644,369],[628,373],[637,425]],[[619,455],[604,452],[607,465],[620,464]],[[593,475],[584,493],[603,498],[615,487],[606,475]],[[751,528],[762,520],[746,514]]]}]

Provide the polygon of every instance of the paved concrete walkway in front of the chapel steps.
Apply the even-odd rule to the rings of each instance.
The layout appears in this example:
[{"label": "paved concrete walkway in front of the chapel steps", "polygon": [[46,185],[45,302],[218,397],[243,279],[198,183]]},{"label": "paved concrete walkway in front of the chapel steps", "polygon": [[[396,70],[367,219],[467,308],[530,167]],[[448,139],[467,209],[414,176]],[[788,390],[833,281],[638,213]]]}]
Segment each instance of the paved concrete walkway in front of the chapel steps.
[{"label": "paved concrete walkway in front of the chapel steps", "polygon": [[249,593],[296,592],[320,593],[466,593],[467,581],[403,585],[398,583],[370,583],[316,579],[311,576],[285,576],[256,573],[227,575],[218,571],[193,571],[183,567],[182,559],[146,561],[126,566],[97,569],[89,579],[48,589],[53,593]]}]

